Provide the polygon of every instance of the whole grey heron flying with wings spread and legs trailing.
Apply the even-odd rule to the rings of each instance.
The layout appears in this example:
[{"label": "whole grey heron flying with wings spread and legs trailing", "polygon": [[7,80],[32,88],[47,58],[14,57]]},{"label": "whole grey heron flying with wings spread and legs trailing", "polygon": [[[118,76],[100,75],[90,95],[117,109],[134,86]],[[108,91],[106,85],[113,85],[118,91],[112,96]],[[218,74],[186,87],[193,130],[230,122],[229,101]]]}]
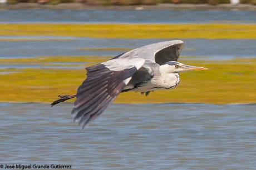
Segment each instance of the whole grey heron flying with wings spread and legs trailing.
[{"label": "whole grey heron flying with wings spread and legs trailing", "polygon": [[178,62],[183,41],[164,41],[122,53],[109,61],[86,68],[87,78],[73,96],[60,96],[51,106],[75,98],[74,121],[84,128],[99,116],[121,92],[173,89],[180,82],[179,72],[204,70]]}]

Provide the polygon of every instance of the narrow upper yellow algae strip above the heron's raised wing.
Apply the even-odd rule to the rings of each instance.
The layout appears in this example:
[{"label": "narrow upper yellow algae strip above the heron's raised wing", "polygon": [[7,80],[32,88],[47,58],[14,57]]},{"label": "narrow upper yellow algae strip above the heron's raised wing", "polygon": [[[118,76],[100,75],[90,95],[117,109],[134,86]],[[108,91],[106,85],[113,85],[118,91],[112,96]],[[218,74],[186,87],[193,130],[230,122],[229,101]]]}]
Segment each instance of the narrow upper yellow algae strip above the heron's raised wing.
[{"label": "narrow upper yellow algae strip above the heron's raised wing", "polygon": [[0,36],[255,39],[256,24],[1,23]]}]

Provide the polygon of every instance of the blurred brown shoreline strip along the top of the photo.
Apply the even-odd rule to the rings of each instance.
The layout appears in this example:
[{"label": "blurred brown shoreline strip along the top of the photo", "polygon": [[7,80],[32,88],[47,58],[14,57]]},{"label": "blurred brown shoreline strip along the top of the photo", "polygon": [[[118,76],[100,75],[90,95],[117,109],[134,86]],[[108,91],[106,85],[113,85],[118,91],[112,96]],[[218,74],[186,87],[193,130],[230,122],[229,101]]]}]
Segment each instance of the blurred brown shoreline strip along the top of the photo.
[{"label": "blurred brown shoreline strip along the top of the photo", "polygon": [[213,10],[256,10],[256,6],[251,4],[218,4],[216,6],[209,4],[157,4],[152,6],[95,6],[81,3],[60,3],[39,4],[39,3],[17,3],[17,4],[0,4],[0,10],[4,9],[85,9],[85,10],[143,10],[143,9],[158,9],[158,10],[183,10],[183,9],[213,9]]}]

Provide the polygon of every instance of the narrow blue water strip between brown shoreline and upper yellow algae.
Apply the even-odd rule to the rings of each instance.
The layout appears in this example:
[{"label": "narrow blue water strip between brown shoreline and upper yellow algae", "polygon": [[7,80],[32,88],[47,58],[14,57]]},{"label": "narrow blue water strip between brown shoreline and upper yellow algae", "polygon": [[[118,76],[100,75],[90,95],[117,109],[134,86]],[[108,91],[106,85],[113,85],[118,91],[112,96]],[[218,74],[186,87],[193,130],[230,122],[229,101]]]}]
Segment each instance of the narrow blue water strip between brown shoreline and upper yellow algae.
[{"label": "narrow blue water strip between brown shoreline and upper yellow algae", "polygon": [[73,10],[9,9],[0,22],[255,23],[256,11],[240,10]]}]

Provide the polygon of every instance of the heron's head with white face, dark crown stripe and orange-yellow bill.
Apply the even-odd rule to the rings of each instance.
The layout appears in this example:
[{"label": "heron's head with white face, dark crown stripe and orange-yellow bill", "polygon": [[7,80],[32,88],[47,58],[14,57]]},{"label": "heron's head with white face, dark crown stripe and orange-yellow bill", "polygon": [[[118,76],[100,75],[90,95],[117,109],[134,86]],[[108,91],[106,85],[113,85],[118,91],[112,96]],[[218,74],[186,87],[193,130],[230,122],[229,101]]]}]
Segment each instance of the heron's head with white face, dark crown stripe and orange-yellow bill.
[{"label": "heron's head with white face, dark crown stripe and orange-yellow bill", "polygon": [[164,72],[168,72],[168,73],[179,73],[179,72],[191,71],[191,70],[205,70],[208,68],[189,66],[180,62],[170,61],[161,65],[160,69],[163,69]]}]

